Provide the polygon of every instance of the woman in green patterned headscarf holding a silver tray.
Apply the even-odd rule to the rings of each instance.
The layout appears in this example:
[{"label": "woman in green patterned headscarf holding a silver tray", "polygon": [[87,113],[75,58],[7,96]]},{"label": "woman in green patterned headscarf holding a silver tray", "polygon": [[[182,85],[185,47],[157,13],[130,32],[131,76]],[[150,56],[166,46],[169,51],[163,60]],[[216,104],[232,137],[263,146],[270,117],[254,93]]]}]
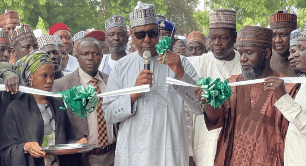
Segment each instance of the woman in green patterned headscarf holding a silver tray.
[{"label": "woman in green patterned headscarf holding a silver tray", "polygon": [[[48,54],[34,50],[16,63],[24,84],[50,91],[54,67]],[[83,165],[82,155],[46,155],[40,146],[75,143],[76,136],[62,102],[53,98],[24,93],[12,101],[4,116],[1,157],[4,165],[65,166]],[[81,139],[77,143],[87,143]]]}]

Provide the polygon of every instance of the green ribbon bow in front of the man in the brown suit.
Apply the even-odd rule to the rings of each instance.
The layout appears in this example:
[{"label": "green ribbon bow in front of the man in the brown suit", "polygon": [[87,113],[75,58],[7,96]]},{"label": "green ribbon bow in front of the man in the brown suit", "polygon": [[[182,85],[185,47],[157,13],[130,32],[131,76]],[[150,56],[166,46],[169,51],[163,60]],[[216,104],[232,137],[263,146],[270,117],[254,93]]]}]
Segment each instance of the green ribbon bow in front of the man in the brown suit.
[{"label": "green ribbon bow in front of the man in the brown suit", "polygon": [[[98,98],[95,97],[97,94],[96,88],[91,85],[88,86],[87,90],[81,85],[55,94],[62,94],[65,107],[71,108],[72,113],[80,118],[86,118],[87,111],[91,113],[98,105]],[[66,108],[60,107],[63,110]]]}]

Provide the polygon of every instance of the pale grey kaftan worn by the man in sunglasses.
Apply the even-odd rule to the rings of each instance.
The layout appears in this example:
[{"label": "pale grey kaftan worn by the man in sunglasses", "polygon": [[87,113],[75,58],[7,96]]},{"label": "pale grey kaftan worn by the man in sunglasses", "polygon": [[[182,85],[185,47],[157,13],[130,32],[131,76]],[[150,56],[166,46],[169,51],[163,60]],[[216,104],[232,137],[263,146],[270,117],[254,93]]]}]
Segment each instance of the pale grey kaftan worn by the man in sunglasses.
[{"label": "pale grey kaftan worn by the man in sunglasses", "polygon": [[[194,87],[166,84],[176,78],[168,65],[151,58],[153,87],[131,105],[130,95],[103,98],[103,114],[109,124],[120,122],[115,166],[187,166],[189,140],[184,103],[196,115],[202,111]],[[195,84],[199,76],[181,56],[185,74],[182,81]],[[121,58],[109,75],[105,92],[133,87],[143,69],[143,59],[134,52]]]}]

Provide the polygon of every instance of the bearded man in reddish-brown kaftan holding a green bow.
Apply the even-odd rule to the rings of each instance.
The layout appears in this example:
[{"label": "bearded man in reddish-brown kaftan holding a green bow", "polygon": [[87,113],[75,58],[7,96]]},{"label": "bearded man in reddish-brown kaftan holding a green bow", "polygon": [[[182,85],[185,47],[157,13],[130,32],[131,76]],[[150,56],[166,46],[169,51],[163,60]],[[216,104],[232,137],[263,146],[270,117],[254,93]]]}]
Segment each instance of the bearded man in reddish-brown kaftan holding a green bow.
[{"label": "bearded man in reddish-brown kaftan holding a green bow", "polygon": [[[242,74],[232,75],[229,82],[285,77],[270,67],[272,35],[271,29],[258,26],[245,26],[238,32]],[[231,98],[221,107],[214,109],[205,104],[206,99],[201,101],[207,129],[222,127],[214,165],[283,165],[289,122],[274,103],[286,93],[294,96],[297,84],[284,85],[279,79],[231,88]],[[201,86],[195,92],[200,100]]]}]

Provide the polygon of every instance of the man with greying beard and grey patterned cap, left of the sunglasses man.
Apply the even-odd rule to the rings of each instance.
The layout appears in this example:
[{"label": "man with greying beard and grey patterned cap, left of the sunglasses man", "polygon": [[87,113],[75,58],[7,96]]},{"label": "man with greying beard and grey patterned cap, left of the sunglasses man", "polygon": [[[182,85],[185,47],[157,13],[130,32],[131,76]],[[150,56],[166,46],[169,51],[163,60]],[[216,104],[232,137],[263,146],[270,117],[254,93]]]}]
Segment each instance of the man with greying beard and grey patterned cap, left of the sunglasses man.
[{"label": "man with greying beard and grey patterned cap, left of the sunglasses man", "polygon": [[127,55],[125,49],[129,37],[125,19],[121,15],[113,15],[112,18],[105,21],[105,32],[105,41],[110,54],[103,56],[99,70],[109,74],[117,61]]}]

